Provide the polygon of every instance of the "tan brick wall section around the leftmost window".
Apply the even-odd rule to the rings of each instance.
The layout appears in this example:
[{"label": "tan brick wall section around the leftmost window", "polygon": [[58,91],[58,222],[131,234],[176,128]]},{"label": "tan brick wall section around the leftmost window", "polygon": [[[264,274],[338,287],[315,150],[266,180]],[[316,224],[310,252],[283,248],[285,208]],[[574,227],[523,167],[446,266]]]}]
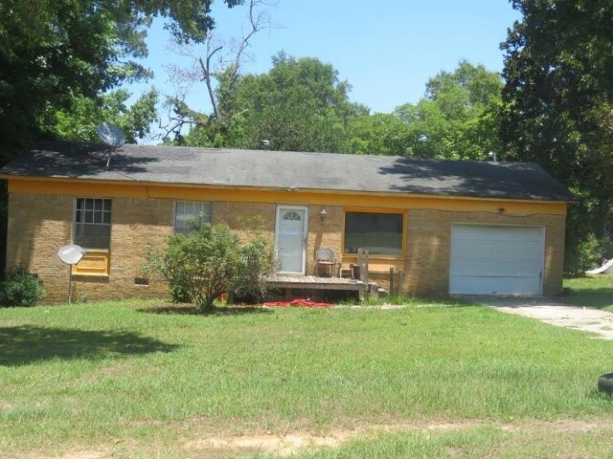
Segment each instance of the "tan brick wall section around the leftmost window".
[{"label": "tan brick wall section around the leftmost window", "polygon": [[[9,195],[7,267],[23,266],[38,274],[45,302],[66,302],[68,267],[58,256],[72,243],[74,198],[53,195]],[[172,231],[172,201],[113,198],[109,277],[73,276],[73,299],[99,300],[167,295],[163,283],[134,285],[143,277],[149,250],[163,247]]]}]

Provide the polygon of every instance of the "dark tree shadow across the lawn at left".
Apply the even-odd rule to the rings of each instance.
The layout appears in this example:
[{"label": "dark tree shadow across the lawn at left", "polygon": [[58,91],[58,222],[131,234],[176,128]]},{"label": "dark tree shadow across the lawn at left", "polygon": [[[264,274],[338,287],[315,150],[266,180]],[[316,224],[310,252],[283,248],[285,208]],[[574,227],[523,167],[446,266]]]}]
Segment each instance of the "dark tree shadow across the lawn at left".
[{"label": "dark tree shadow across the lawn at left", "polygon": [[177,346],[131,332],[38,326],[0,327],[0,365],[51,359],[102,359],[113,355],[172,352]]}]

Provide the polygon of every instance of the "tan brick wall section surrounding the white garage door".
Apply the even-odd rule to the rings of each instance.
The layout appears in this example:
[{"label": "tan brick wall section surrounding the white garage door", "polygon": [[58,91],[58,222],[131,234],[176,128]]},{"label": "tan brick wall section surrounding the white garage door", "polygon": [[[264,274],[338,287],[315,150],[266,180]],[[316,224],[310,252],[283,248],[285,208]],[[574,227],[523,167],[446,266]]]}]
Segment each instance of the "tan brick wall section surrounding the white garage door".
[{"label": "tan brick wall section surrounding the white garage door", "polygon": [[491,223],[545,227],[544,294],[562,291],[565,217],[497,215],[489,212],[409,211],[403,288],[417,296],[440,296],[449,290],[452,223]]}]

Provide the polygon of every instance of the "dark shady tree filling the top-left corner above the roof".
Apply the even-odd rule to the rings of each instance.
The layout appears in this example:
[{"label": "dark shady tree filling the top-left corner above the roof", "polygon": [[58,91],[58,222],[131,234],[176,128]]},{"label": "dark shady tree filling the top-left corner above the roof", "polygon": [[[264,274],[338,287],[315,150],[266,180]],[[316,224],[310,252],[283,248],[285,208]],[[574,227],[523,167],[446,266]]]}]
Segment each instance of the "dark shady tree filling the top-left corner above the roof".
[{"label": "dark shady tree filling the top-left corner above the roof", "polygon": [[[224,0],[235,6],[243,0]],[[212,0],[0,0],[0,138],[13,149],[53,135],[55,114],[75,98],[100,102],[124,81],[150,75],[151,19],[167,18],[181,42],[202,42]],[[51,127],[51,128],[50,128]]]}]

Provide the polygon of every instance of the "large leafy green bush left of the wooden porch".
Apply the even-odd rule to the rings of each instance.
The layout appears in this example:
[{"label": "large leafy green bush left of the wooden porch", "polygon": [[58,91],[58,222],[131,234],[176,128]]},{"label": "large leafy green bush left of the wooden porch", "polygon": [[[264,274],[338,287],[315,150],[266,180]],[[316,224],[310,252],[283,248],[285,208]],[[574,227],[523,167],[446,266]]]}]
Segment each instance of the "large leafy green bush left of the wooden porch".
[{"label": "large leafy green bush left of the wooden porch", "polygon": [[260,234],[243,242],[227,225],[205,223],[189,234],[172,234],[165,252],[150,255],[147,269],[167,280],[173,297],[181,293],[208,312],[223,293],[262,296],[263,278],[274,262],[272,247]]}]

